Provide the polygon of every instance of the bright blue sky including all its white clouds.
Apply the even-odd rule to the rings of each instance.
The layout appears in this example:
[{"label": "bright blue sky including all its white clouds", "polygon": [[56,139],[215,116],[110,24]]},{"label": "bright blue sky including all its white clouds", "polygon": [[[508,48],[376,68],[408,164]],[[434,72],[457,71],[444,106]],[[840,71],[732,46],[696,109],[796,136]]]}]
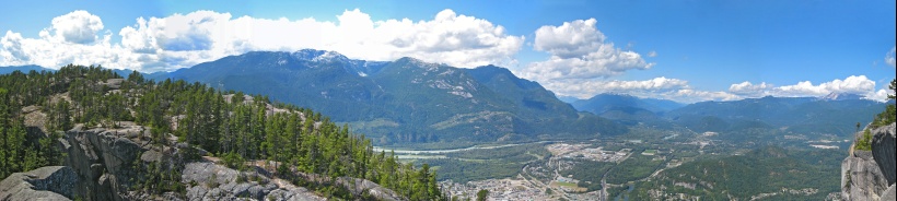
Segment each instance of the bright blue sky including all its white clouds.
[{"label": "bright blue sky including all its white clouds", "polygon": [[894,93],[895,8],[894,0],[7,1],[0,67],[156,72],[313,48],[496,64],[578,98],[884,100]]}]

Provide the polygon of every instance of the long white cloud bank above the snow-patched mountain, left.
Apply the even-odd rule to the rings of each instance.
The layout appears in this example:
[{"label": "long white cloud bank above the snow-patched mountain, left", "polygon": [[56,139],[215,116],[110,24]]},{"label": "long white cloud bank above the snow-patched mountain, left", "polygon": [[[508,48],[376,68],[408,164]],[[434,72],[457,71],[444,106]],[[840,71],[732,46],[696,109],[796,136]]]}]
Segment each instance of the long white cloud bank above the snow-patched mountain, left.
[{"label": "long white cloud bank above the snow-patched mountain, left", "polygon": [[0,38],[0,66],[103,64],[145,72],[171,71],[252,50],[335,50],[349,58],[394,60],[415,57],[461,68],[515,63],[524,36],[501,25],[443,10],[432,20],[373,21],[347,10],[336,22],[307,19],[234,17],[196,11],[164,17],[138,17],[110,43],[100,16],[74,11],[53,20],[39,38],[7,32]]}]

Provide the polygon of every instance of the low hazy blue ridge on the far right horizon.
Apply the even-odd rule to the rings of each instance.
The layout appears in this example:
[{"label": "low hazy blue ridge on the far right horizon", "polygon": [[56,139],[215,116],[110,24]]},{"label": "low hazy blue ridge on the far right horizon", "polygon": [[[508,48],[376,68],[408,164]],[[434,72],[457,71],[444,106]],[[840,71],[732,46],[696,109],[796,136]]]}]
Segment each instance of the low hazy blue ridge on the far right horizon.
[{"label": "low hazy blue ridge on the far right horizon", "polygon": [[885,104],[869,99],[766,96],[695,103],[664,116],[698,132],[767,128],[795,133],[848,134],[854,131],[858,120],[861,125],[871,122]]}]

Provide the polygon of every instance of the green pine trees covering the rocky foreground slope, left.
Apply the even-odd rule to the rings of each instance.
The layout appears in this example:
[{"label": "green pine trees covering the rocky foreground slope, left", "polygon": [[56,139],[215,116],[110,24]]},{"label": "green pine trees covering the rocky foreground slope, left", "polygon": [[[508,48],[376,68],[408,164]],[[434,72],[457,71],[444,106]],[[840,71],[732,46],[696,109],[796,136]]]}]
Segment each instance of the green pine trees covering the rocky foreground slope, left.
[{"label": "green pine trees covering the rocky foreground slope, left", "polygon": [[[352,134],[348,127],[339,127],[311,109],[278,104],[282,110],[276,110],[265,96],[223,93],[183,80],[156,83],[136,71],[120,85],[113,86],[107,83],[109,79],[121,76],[101,67],[80,66],[0,75],[0,176],[59,164],[61,156],[50,145],[58,138],[55,131],[75,123],[113,128],[121,121],[136,121],[151,128],[154,145],[166,145],[168,134],[174,134],[190,147],[172,156],[177,159],[171,162],[132,164],[140,175],[132,180],[133,190],[185,193],[180,168],[199,157],[194,149],[202,149],[223,156],[232,168],[243,169],[246,161],[269,159],[329,180],[369,179],[411,200],[442,199],[436,174],[429,165],[416,168],[397,162],[392,154],[374,153],[364,135]],[[54,134],[27,140],[38,138],[26,138],[32,133],[23,126],[21,110],[25,106],[42,106]],[[277,169],[287,170],[278,173],[287,180],[308,185],[289,168]],[[354,199],[341,188],[312,189],[331,198]]]}]

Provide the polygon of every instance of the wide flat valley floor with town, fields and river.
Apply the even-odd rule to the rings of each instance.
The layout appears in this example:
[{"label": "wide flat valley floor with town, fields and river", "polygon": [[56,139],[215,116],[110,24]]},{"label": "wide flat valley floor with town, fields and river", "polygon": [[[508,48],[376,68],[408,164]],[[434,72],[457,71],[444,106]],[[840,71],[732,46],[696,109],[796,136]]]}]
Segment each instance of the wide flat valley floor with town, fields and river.
[{"label": "wide flat valley floor with town, fields and river", "polygon": [[[724,134],[725,135],[725,134]],[[800,134],[799,134],[800,135]],[[809,169],[816,180],[835,178],[831,169],[839,166],[850,141],[831,137],[785,135],[765,142],[737,143],[715,132],[698,133],[685,128],[671,131],[655,128],[633,128],[622,137],[575,141],[541,141],[503,145],[482,145],[450,150],[395,150],[404,162],[428,163],[443,180],[440,185],[453,197],[473,198],[477,191],[489,190],[494,200],[615,200],[649,197],[698,198],[682,190],[654,190],[659,181],[669,180],[663,173],[695,162],[731,159],[750,155],[757,150],[801,152],[831,155],[825,163]],[[819,145],[825,144],[825,145]],[[784,149],[782,149],[784,147]],[[388,149],[378,147],[389,152]],[[805,159],[790,155],[788,159]],[[788,161],[785,159],[785,161]],[[742,169],[736,174],[750,174]],[[686,172],[688,173],[688,172]],[[811,179],[812,178],[804,178]],[[679,186],[688,186],[682,182]],[[777,186],[777,185],[772,185]],[[837,192],[836,185],[805,186],[801,198],[825,198]],[[793,188],[777,186],[771,188]],[[680,194],[680,197],[679,197]],[[710,193],[712,194],[712,193]],[[761,197],[762,193],[738,198]],[[655,198],[652,197],[652,198]],[[642,200],[637,199],[637,200]]]}]

